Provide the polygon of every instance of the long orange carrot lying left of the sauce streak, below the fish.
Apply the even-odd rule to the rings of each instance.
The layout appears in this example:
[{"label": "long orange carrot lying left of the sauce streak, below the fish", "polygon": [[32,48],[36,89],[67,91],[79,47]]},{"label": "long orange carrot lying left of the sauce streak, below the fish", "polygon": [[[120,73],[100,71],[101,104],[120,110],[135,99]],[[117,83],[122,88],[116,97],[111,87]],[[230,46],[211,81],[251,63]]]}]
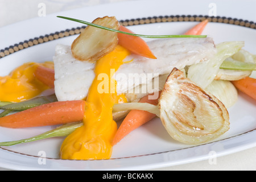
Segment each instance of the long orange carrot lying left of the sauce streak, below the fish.
[{"label": "long orange carrot lying left of the sauce streak, below the fish", "polygon": [[52,102],[0,118],[0,126],[24,128],[79,122],[84,111],[85,101]]}]

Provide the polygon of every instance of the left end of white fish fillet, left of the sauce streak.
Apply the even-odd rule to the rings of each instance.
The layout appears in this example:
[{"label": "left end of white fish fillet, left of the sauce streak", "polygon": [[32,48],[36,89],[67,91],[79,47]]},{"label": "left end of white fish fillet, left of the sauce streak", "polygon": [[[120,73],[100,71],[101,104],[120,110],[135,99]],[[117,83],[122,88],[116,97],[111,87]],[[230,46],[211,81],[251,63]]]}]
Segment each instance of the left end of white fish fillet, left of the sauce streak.
[{"label": "left end of white fish fillet, left of the sauce streak", "polygon": [[53,57],[55,94],[59,101],[82,100],[94,80],[93,63],[76,60],[70,46],[57,45]]}]

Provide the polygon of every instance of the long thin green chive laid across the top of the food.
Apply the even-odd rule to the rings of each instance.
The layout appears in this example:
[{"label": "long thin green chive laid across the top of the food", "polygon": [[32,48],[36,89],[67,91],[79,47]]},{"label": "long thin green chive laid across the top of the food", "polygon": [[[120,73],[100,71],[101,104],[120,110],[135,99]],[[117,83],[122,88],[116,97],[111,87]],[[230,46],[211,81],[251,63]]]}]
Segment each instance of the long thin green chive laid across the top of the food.
[{"label": "long thin green chive laid across the top of the food", "polygon": [[140,34],[130,34],[128,32],[123,32],[123,31],[112,29],[112,28],[100,26],[98,24],[94,24],[94,23],[90,23],[90,22],[85,22],[84,20],[68,18],[68,17],[65,17],[65,16],[57,16],[57,18],[63,18],[63,19],[71,20],[73,22],[87,24],[88,26],[92,26],[92,27],[96,27],[96,28],[101,28],[101,29],[109,30],[109,31],[113,31],[113,32],[118,32],[118,33],[121,33],[121,34],[138,36],[138,37],[141,37],[141,38],[160,39],[160,38],[206,38],[207,37],[207,35],[140,35]]}]

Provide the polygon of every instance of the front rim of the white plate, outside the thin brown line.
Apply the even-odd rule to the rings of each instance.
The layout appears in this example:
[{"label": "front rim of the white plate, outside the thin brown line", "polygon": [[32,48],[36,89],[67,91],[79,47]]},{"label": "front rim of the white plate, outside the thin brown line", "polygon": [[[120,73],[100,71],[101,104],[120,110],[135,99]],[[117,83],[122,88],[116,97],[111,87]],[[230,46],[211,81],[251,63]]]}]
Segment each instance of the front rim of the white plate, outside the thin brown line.
[{"label": "front rim of the white plate, outside the thin brown line", "polygon": [[[251,130],[247,133],[236,135],[234,137],[225,138],[222,140],[216,140],[215,142],[205,143],[205,144],[199,145],[199,146],[185,148],[185,149],[191,150],[193,152],[193,151],[195,151],[194,150],[195,148],[197,149],[197,148],[201,148],[202,146],[204,146],[205,148],[203,150],[203,153],[201,153],[201,154],[195,153],[195,156],[192,155],[192,156],[188,156],[188,157],[185,156],[184,158],[170,159],[170,156],[175,155],[176,151],[184,150],[183,148],[176,150],[176,151],[166,151],[166,152],[161,152],[161,153],[156,153],[156,154],[150,154],[150,156],[152,156],[151,160],[161,160],[157,164],[155,164],[154,161],[148,162],[147,156],[149,156],[149,155],[141,155],[141,156],[135,156],[135,157],[118,158],[118,159],[108,159],[108,160],[61,160],[61,159],[43,158],[46,160],[46,163],[50,164],[51,167],[49,167],[48,165],[38,164],[39,160],[42,159],[39,156],[32,156],[32,155],[27,155],[27,154],[20,155],[19,152],[13,152],[13,151],[8,151],[8,150],[0,150],[0,154],[2,152],[3,153],[7,152],[7,155],[9,158],[16,157],[16,158],[18,158],[18,160],[24,160],[24,161],[30,162],[30,163],[32,162],[34,164],[34,166],[32,166],[32,165],[22,166],[22,162],[19,162],[18,164],[16,162],[9,164],[9,163],[2,162],[2,160],[0,161],[0,164],[2,164],[1,165],[2,167],[14,169],[14,170],[20,170],[20,169],[22,169],[22,170],[67,170],[68,169],[68,170],[81,170],[81,171],[85,171],[85,170],[86,171],[92,171],[92,170],[94,170],[94,171],[102,171],[102,170],[104,170],[104,171],[105,170],[129,171],[129,170],[134,170],[134,169],[150,170],[153,168],[163,168],[163,167],[167,167],[167,166],[171,167],[171,166],[185,164],[185,163],[187,163],[188,159],[190,162],[199,162],[201,160],[206,160],[206,159],[210,160],[210,158],[212,158],[212,159],[218,158],[218,157],[224,156],[226,154],[234,154],[236,152],[246,150],[251,147],[255,147],[256,140],[253,143],[251,143],[251,142],[243,143],[243,145],[239,146],[239,147],[232,146],[232,143],[237,143],[236,140],[231,140],[231,144],[230,144],[229,139],[231,139],[231,138],[237,138],[239,140],[238,143],[247,141],[248,139],[245,139],[243,137],[244,135],[247,138],[250,138],[250,140],[253,140],[253,138],[256,137],[256,129]],[[224,143],[229,142],[230,146],[228,148],[225,148],[225,150],[221,149],[220,151],[214,151],[213,148],[216,146],[218,148],[218,146],[219,146],[218,144],[220,144],[222,142],[224,142]],[[210,151],[214,151],[216,153],[213,155],[210,155],[209,154]],[[16,156],[16,155],[18,155],[18,156]],[[199,158],[199,156],[200,156],[200,158]],[[132,160],[134,163],[136,163],[136,162],[138,162],[136,160],[137,158],[143,159],[144,163],[139,163],[138,166],[134,167],[133,165],[130,164],[130,160]],[[1,157],[0,157],[0,159],[1,159]],[[125,160],[125,162],[123,162],[122,160]],[[128,164],[126,163],[127,160],[129,160]],[[117,162],[117,164],[116,164],[116,162]],[[93,165],[90,163],[97,163],[97,164]],[[37,165],[35,166],[35,164],[37,164]],[[70,166],[67,164],[69,164]],[[102,164],[102,165],[100,167],[98,167],[98,164]],[[75,166],[79,165],[79,167],[73,167],[74,165]],[[95,167],[95,166],[97,166],[97,167]]]}]

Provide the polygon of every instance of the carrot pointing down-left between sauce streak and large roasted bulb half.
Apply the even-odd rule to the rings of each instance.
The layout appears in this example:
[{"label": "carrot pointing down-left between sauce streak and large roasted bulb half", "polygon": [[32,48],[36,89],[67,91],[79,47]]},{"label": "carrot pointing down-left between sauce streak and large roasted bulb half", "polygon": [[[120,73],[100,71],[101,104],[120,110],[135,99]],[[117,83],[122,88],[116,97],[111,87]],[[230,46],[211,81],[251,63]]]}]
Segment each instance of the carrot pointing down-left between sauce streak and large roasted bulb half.
[{"label": "carrot pointing down-left between sauce streak and large roasted bulb half", "polygon": [[[159,92],[160,97],[161,92]],[[150,95],[148,95],[150,96]],[[158,105],[158,99],[150,100],[148,96],[143,97],[139,102],[149,103],[153,105]],[[117,144],[121,139],[123,139],[127,134],[131,133],[131,131],[137,129],[138,127],[144,125],[144,123],[150,121],[155,118],[156,115],[149,113],[148,111],[143,110],[131,110],[130,113],[127,114],[126,118],[123,120],[121,126],[117,130],[115,137],[112,141],[112,145]]]}]

